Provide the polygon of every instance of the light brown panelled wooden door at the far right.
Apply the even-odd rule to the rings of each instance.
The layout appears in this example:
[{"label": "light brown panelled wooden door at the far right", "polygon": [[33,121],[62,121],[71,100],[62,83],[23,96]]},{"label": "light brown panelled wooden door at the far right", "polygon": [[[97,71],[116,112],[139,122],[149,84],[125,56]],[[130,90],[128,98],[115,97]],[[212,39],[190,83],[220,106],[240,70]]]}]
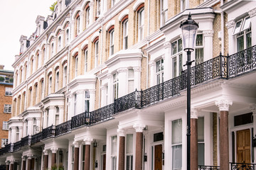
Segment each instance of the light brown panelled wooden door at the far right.
[{"label": "light brown panelled wooden door at the far right", "polygon": [[237,162],[250,164],[250,129],[237,132]]}]

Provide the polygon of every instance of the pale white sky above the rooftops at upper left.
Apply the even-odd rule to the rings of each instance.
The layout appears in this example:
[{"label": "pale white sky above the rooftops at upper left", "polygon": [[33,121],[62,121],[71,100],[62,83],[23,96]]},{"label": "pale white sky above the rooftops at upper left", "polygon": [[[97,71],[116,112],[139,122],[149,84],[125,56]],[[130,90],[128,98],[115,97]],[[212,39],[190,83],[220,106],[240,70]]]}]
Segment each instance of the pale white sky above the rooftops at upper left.
[{"label": "pale white sky above the rooftops at upper left", "polygon": [[56,0],[0,0],[0,64],[13,70],[15,55],[19,55],[21,35],[27,38],[36,31],[37,16],[47,18]]}]

